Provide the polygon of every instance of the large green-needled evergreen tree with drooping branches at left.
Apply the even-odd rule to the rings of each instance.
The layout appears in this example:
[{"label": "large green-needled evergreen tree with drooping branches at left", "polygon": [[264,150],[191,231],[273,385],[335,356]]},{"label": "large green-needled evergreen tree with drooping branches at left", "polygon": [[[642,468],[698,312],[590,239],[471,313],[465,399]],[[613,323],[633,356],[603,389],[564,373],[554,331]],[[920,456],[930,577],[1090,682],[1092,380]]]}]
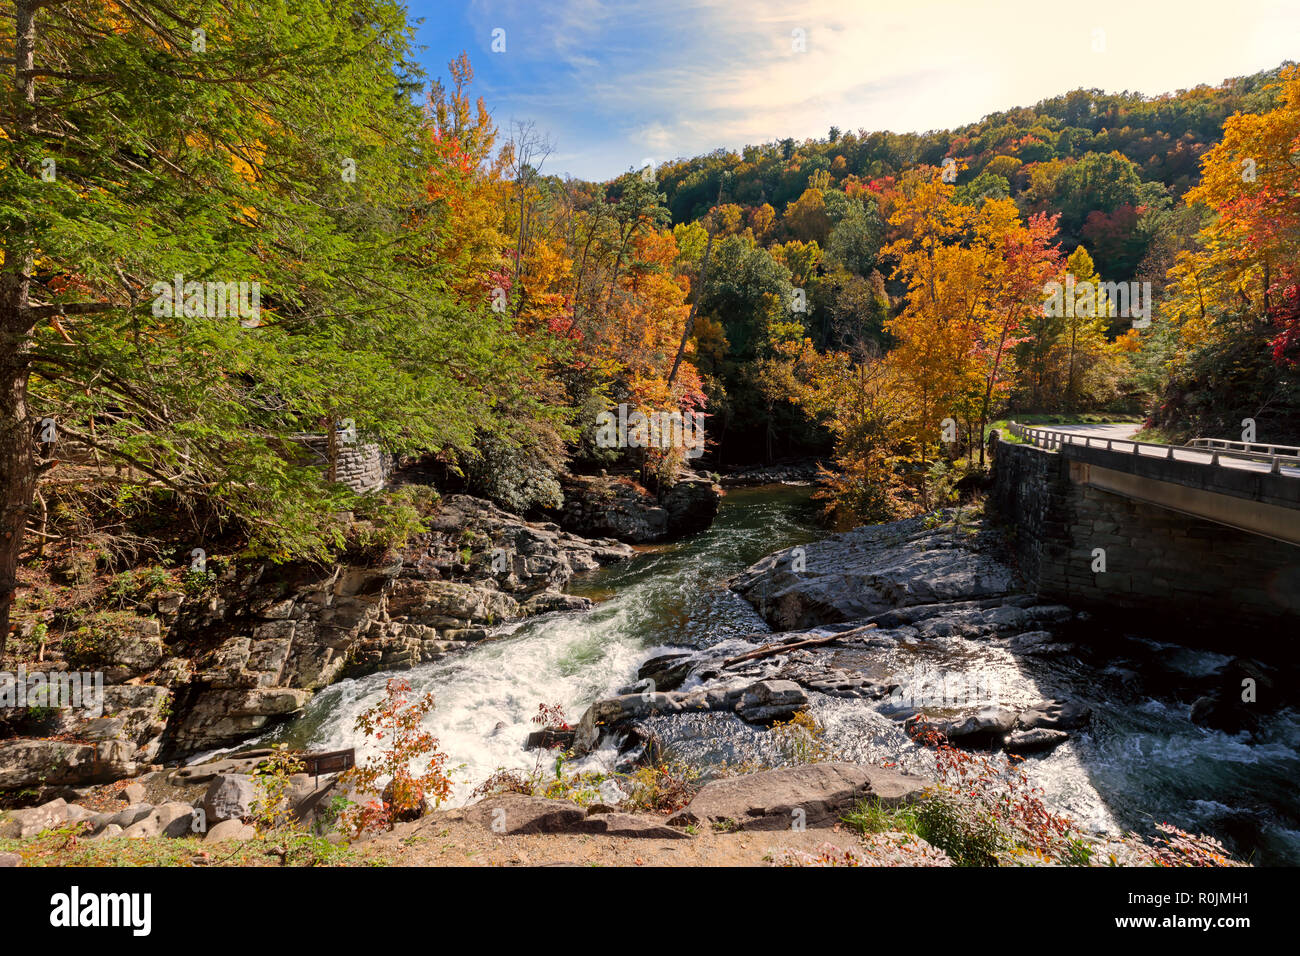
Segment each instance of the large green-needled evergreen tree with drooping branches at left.
[{"label": "large green-needled evergreen tree with drooping branches at left", "polygon": [[[425,170],[458,160],[413,98],[399,4],[9,10],[0,641],[36,480],[69,453],[118,466],[86,486],[174,496],[250,554],[321,558],[347,494],[294,436],[324,432],[333,455],[350,419],[393,451],[467,447],[526,401],[526,343],[434,268]],[[239,282],[259,287],[248,315],[205,293]]]}]

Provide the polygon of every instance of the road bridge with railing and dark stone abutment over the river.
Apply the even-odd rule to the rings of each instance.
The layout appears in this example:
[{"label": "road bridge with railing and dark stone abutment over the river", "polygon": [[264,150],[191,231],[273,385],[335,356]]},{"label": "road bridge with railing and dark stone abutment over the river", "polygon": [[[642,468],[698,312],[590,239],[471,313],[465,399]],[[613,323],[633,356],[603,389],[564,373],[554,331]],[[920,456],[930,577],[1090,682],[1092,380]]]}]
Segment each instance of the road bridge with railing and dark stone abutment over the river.
[{"label": "road bridge with railing and dark stone abutment over the river", "polygon": [[994,503],[1030,584],[1169,623],[1300,620],[1300,449],[1135,429],[1013,423],[1024,444],[996,445]]}]

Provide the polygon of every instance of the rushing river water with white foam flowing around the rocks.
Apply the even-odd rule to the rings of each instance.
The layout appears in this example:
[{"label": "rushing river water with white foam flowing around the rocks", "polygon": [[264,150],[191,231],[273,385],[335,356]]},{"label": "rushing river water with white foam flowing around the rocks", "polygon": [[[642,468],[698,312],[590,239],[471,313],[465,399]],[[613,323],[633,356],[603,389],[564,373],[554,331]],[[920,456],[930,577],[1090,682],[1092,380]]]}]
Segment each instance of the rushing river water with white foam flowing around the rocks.
[{"label": "rushing river water with white foam flowing around the rocks", "polygon": [[[634,683],[637,667],[655,653],[768,631],[723,581],[770,551],[824,536],[815,518],[807,488],[731,490],[707,532],[576,579],[571,591],[595,600],[592,610],[502,628],[493,640],[404,674],[417,693],[434,693],[428,726],[456,767],[454,801],[467,800],[499,767],[534,766],[523,740],[536,730],[540,704],[562,705],[572,722],[594,700]],[[1091,727],[1027,762],[1049,803],[1095,830],[1149,831],[1167,821],[1218,836],[1256,862],[1300,864],[1300,715],[1274,715],[1254,737],[1197,727],[1190,702],[1227,657],[1087,622],[1071,624],[1066,636],[1076,652],[1050,658],[1017,658],[998,641],[930,639],[854,648],[835,662],[905,692],[932,687],[939,674],[994,688],[1010,706],[1083,700],[1093,710]],[[334,684],[268,739],[313,749],[355,745],[364,758],[367,741],[354,722],[382,697],[389,676]],[[810,696],[828,744],[846,757],[928,773],[928,753],[902,732],[910,710]],[[779,757],[766,731],[729,714],[653,718],[651,726],[672,756],[702,766]]]}]

